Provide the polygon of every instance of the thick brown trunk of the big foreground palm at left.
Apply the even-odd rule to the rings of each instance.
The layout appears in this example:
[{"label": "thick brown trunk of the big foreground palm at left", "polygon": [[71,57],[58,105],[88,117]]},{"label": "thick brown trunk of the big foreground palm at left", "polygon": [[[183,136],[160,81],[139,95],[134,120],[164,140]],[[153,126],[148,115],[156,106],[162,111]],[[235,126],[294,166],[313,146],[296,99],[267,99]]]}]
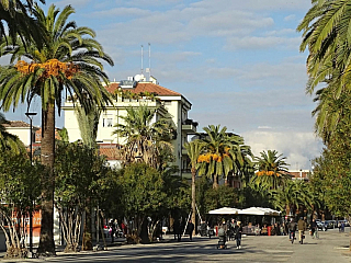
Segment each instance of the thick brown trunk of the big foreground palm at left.
[{"label": "thick brown trunk of the big foreground palm at left", "polygon": [[55,153],[55,102],[52,100],[42,110],[42,163],[47,167],[43,179],[42,227],[38,254],[55,254],[54,242],[54,153]]}]

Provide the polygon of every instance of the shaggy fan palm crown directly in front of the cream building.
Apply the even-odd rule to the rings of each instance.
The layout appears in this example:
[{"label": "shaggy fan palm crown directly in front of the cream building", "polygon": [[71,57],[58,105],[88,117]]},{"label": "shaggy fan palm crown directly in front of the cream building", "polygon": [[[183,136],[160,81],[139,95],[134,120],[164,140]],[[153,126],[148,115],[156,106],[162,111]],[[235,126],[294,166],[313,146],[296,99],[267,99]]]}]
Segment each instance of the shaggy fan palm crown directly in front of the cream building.
[{"label": "shaggy fan palm crown directly in front of the cream building", "polygon": [[126,108],[127,115],[121,116],[124,124],[116,124],[112,134],[126,139],[124,146],[125,163],[145,162],[161,170],[171,156],[171,124],[166,118],[156,122],[157,108],[147,105]]}]

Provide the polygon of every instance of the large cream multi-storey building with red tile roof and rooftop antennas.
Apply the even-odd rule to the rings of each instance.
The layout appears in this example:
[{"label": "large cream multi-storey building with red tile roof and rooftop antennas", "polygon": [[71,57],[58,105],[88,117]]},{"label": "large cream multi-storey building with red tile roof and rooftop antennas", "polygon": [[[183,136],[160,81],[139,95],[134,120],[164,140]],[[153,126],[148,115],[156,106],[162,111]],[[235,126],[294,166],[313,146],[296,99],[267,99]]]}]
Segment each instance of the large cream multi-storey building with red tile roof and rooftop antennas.
[{"label": "large cream multi-storey building with red tile roof and rooftop antennas", "polygon": [[[121,165],[118,148],[126,142],[126,138],[112,135],[115,130],[113,126],[123,122],[121,116],[126,116],[127,107],[147,105],[151,108],[158,108],[155,122],[160,117],[168,117],[171,121],[174,129],[174,139],[172,140],[173,155],[176,157],[174,164],[179,167],[180,174],[182,174],[182,170],[188,168],[188,156],[183,149],[183,145],[188,141],[189,134],[195,134],[197,126],[197,123],[188,116],[192,104],[182,94],[159,85],[154,77],[150,77],[149,81],[146,81],[143,75],[128,77],[127,80],[120,82],[112,82],[106,87],[106,90],[117,95],[115,95],[114,104],[109,105],[106,111],[100,116],[97,141],[100,145],[101,155],[105,155],[110,163]],[[147,95],[126,98],[121,92],[151,94],[155,96],[155,100]],[[63,110],[65,128],[68,132],[69,140],[76,141],[81,139],[73,103],[67,100]],[[107,150],[109,147],[113,150]]]}]

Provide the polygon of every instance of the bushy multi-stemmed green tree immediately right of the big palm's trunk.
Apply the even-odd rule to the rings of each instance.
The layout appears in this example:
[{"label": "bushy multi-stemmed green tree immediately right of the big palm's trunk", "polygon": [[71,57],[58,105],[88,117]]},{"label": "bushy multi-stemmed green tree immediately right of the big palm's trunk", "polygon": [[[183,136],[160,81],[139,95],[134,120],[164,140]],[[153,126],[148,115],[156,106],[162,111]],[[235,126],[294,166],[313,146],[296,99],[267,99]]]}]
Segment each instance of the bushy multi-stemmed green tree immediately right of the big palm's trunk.
[{"label": "bushy multi-stemmed green tree immediately right of the big palm's trunk", "polygon": [[59,141],[55,171],[55,202],[67,243],[65,251],[77,251],[82,217],[91,207],[104,202],[104,192],[111,187],[111,170],[94,149]]}]

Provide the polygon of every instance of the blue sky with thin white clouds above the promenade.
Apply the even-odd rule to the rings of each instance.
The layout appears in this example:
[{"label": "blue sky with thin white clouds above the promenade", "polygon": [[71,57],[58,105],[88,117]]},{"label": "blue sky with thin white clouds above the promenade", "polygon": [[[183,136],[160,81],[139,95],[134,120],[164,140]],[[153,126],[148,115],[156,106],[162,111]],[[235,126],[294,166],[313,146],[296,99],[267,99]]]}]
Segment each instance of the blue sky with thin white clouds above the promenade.
[{"label": "blue sky with thin white clouds above the promenade", "polygon": [[[299,53],[296,32],[310,1],[46,2],[46,9],[71,4],[71,20],[97,32],[115,62],[105,68],[110,80],[140,73],[141,45],[148,67],[150,43],[151,75],[191,101],[190,118],[201,128],[227,126],[244,136],[256,155],[268,149],[283,153],[293,170],[309,169],[309,160],[319,156],[321,144],[310,114],[315,105],[305,95],[307,54]],[[24,112],[7,117],[26,121]]]}]

